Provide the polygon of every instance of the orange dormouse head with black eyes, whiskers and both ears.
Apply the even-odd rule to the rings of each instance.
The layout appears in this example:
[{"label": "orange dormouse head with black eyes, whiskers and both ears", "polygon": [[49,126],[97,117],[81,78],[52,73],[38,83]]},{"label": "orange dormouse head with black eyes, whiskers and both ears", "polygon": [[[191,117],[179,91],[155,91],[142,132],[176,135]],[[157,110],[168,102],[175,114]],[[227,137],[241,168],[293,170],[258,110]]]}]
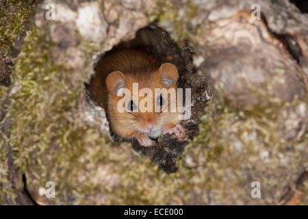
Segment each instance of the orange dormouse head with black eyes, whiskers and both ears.
[{"label": "orange dormouse head with black eyes, whiskers and both ears", "polygon": [[110,73],[106,79],[110,118],[116,116],[118,125],[138,133],[159,133],[177,115],[178,78],[177,67],[171,63],[152,73]]}]

